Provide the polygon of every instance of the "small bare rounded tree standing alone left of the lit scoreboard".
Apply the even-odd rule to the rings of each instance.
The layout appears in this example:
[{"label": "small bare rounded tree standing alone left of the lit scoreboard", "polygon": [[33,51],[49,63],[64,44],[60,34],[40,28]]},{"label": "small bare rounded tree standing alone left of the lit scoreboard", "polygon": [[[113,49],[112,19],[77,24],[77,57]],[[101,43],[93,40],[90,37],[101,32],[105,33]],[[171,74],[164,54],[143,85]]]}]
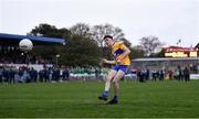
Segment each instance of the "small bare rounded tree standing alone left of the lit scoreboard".
[{"label": "small bare rounded tree standing alone left of the lit scoreboard", "polygon": [[151,54],[159,52],[163,43],[156,36],[144,36],[140,39],[140,45],[145,52],[145,56],[150,56]]}]

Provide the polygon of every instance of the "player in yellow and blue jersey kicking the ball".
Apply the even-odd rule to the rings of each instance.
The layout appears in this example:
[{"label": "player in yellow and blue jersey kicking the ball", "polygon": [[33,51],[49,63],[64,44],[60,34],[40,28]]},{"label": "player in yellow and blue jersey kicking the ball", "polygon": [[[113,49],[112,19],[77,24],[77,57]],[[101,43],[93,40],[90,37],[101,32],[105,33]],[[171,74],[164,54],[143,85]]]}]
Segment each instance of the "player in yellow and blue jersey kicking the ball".
[{"label": "player in yellow and blue jersey kicking the ball", "polygon": [[98,97],[100,100],[107,100],[111,84],[114,87],[114,97],[112,100],[106,104],[114,105],[118,104],[118,90],[119,90],[119,79],[124,77],[127,67],[130,65],[130,60],[128,54],[130,53],[129,48],[124,45],[123,42],[115,41],[111,35],[105,35],[104,41],[106,45],[112,50],[114,61],[103,60],[103,63],[115,64],[108,73],[105,82],[105,89],[102,95]]}]

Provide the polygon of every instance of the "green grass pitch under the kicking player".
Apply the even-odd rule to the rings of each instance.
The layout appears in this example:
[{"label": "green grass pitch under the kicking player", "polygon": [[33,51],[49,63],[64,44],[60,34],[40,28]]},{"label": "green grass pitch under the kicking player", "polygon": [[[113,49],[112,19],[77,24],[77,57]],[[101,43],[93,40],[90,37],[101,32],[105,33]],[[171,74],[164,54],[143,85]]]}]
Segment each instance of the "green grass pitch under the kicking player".
[{"label": "green grass pitch under the kicking player", "polygon": [[97,100],[103,88],[103,82],[0,84],[0,118],[199,118],[199,80],[121,82],[118,105]]}]

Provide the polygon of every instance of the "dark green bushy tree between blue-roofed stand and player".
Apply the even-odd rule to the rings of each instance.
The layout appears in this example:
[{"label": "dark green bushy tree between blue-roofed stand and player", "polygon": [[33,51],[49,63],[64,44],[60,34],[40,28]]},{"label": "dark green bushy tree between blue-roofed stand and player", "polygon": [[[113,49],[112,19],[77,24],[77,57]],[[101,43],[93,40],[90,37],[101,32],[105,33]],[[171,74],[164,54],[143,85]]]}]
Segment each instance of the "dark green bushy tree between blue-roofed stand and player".
[{"label": "dark green bushy tree between blue-roofed stand and player", "polygon": [[94,40],[73,35],[61,56],[61,62],[67,66],[96,66],[100,61],[100,48]]}]

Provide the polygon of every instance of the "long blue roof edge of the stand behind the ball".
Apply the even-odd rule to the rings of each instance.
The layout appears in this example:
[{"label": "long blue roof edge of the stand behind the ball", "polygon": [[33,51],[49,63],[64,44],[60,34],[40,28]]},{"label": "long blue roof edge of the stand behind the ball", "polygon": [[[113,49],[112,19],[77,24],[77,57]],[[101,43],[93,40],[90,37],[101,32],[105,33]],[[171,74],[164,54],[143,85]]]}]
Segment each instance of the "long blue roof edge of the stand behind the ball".
[{"label": "long blue roof edge of the stand behind the ball", "polygon": [[43,36],[33,36],[33,35],[17,35],[17,34],[7,34],[0,33],[0,43],[19,43],[22,39],[29,39],[33,43],[53,43],[53,44],[63,44],[65,42],[64,39],[55,39],[55,37],[43,37]]}]

